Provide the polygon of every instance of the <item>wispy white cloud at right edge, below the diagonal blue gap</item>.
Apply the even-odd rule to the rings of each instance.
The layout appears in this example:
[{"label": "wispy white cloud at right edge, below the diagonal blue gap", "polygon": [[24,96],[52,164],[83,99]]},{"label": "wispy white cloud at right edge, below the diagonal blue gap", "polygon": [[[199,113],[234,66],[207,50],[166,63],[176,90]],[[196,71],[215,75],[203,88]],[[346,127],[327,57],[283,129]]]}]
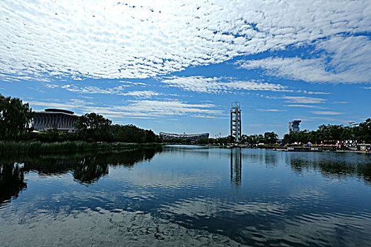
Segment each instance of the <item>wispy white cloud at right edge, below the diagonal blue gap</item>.
[{"label": "wispy white cloud at right edge, below the diagonal blue gap", "polygon": [[[320,83],[370,83],[371,40],[369,37],[336,36],[316,43],[317,50],[324,50],[315,59],[266,58],[238,61],[240,68],[266,70],[271,76]],[[316,92],[313,92],[316,93]],[[317,92],[318,94],[318,92]]]}]

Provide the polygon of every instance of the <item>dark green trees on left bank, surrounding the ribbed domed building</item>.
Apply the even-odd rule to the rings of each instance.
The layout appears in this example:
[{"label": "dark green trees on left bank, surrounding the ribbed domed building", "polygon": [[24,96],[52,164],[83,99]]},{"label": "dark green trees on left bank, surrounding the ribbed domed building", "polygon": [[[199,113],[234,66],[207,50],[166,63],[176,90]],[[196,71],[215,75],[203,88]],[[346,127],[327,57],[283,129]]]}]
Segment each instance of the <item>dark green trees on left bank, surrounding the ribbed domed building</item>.
[{"label": "dark green trees on left bank, surrounding the ribbed domed building", "polygon": [[0,95],[0,140],[40,140],[61,142],[84,140],[88,142],[160,143],[160,137],[151,130],[134,125],[112,124],[100,114],[80,116],[75,123],[76,133],[64,133],[57,128],[34,133],[32,119],[35,112],[19,98]]}]

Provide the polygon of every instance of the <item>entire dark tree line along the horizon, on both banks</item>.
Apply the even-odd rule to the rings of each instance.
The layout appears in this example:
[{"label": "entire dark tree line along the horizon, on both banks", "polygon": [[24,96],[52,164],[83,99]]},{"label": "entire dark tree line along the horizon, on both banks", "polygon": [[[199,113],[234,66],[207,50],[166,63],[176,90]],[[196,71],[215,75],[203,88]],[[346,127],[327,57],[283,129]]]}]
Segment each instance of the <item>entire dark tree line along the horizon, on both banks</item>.
[{"label": "entire dark tree line along the horizon, on both banks", "polygon": [[[84,140],[88,142],[123,142],[123,143],[160,143],[160,136],[151,130],[134,125],[112,124],[100,114],[89,113],[76,121],[76,133],[63,133],[56,128],[41,133],[33,133],[31,122],[35,112],[28,103],[12,97],[0,95],[0,140],[40,140],[59,142],[65,140]],[[242,135],[240,143],[274,144],[278,135],[266,132],[264,135]],[[322,140],[358,140],[371,143],[371,119],[366,119],[358,126],[321,125],[316,131],[290,132],[284,135],[283,143],[321,143]],[[168,142],[190,143],[190,140],[169,140]],[[199,144],[235,143],[229,135],[226,137],[201,138]]]}]

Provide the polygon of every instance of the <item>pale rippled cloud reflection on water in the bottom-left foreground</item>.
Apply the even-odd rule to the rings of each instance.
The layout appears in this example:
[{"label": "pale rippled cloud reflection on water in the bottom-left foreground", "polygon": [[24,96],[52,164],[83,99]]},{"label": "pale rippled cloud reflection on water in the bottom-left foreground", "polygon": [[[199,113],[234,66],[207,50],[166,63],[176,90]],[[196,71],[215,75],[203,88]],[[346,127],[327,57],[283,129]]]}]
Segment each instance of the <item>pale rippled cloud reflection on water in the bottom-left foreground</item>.
[{"label": "pale rippled cloud reflection on water in the bottom-left foreground", "polygon": [[126,246],[240,245],[227,236],[187,229],[144,212],[110,212],[96,207],[94,210],[55,215],[54,218],[37,214],[33,220],[37,224],[31,228],[19,227],[15,223],[4,226],[4,222],[0,222],[1,239],[11,246],[49,246],[50,243],[54,246],[122,246],[123,243]]}]

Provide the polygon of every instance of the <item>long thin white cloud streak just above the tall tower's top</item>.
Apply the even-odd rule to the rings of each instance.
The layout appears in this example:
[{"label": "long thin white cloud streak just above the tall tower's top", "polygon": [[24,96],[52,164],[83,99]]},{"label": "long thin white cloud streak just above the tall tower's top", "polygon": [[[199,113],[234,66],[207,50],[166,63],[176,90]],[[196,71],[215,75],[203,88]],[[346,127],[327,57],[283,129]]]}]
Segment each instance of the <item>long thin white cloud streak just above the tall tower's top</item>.
[{"label": "long thin white cloud streak just above the tall tower's top", "polygon": [[[225,82],[228,81],[228,82]],[[254,80],[244,81],[235,78],[217,78],[204,76],[173,76],[161,81],[169,87],[182,88],[183,90],[206,93],[226,93],[233,90],[264,90],[289,92],[287,87],[280,84],[261,83]]]}]

